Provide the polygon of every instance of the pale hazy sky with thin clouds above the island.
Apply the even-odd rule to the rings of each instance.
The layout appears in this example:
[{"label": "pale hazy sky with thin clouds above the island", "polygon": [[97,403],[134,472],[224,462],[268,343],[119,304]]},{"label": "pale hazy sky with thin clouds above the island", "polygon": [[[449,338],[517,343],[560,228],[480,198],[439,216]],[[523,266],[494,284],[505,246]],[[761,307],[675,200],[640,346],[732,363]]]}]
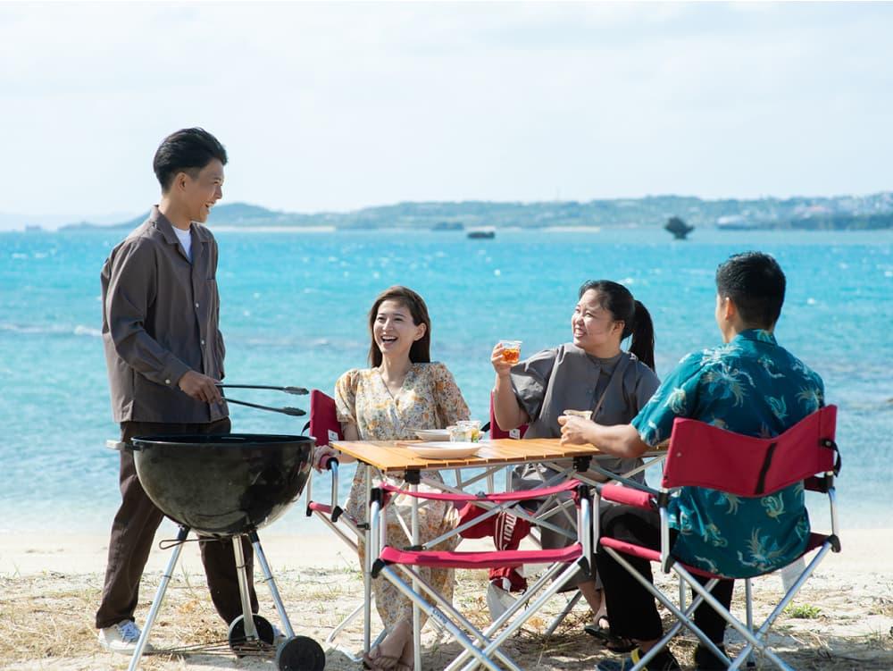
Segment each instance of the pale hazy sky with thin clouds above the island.
[{"label": "pale hazy sky with thin clouds above the island", "polygon": [[0,213],[891,189],[893,4],[0,4]]}]

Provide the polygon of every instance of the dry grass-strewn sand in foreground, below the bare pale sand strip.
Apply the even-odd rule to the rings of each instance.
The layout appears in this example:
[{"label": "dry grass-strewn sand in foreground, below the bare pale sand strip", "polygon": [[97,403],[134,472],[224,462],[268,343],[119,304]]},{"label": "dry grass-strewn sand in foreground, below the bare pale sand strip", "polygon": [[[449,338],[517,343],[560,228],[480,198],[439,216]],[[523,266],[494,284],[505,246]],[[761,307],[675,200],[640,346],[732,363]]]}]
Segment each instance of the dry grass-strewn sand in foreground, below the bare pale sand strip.
[{"label": "dry grass-strewn sand in foreground, below the bare pale sand strip", "polygon": [[[348,567],[286,570],[278,572],[276,578],[296,632],[319,642],[362,599],[361,577]],[[137,613],[139,622],[145,620],[158,580],[157,571],[146,575]],[[794,608],[772,628],[776,649],[798,669],[893,668],[891,582],[889,575],[867,572],[848,575],[841,582],[832,571],[820,569]],[[0,578],[0,667],[63,671],[126,668],[127,658],[105,653],[96,643],[93,615],[101,586],[102,575],[98,572]],[[455,604],[479,625],[488,622],[484,586],[480,572],[459,572]],[[259,583],[262,612],[275,620],[269,597],[261,589]],[[779,592],[780,581],[776,577],[755,582],[757,615],[768,610]],[[557,612],[563,604],[563,597],[556,597],[548,613]],[[578,605],[558,632],[549,637],[543,635],[548,616],[536,616],[508,642],[507,651],[524,669],[592,669],[609,653],[580,633],[587,616],[588,610]],[[204,576],[190,575],[178,568],[154,627],[154,644],[173,647],[219,642],[225,635],[206,593]],[[446,636],[430,631],[430,627],[423,635],[426,669],[445,667],[459,650]],[[358,650],[361,640],[362,625],[358,619],[343,634],[343,647],[327,650],[327,669],[360,669],[361,665],[352,661],[345,650]],[[690,635],[677,637],[672,643],[683,667],[691,667],[694,645]],[[739,647],[740,642],[731,638],[730,648]],[[238,659],[229,652],[190,652],[182,656],[146,657],[142,668],[273,669],[275,665],[269,659]]]}]

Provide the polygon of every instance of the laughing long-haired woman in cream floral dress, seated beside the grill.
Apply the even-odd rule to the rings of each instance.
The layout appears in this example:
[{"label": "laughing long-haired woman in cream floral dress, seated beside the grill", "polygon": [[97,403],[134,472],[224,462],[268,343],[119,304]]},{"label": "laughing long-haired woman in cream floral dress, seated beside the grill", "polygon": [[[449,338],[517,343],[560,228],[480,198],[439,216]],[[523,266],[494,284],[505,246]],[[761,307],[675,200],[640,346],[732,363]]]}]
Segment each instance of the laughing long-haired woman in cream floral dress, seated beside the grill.
[{"label": "laughing long-haired woman in cream floral dress, seated beside the grill", "polygon": [[[391,287],[375,299],[369,312],[371,368],[351,369],[335,384],[338,422],[345,440],[411,440],[416,428],[446,428],[468,419],[468,406],[447,366],[431,362],[431,322],[428,307],[412,289]],[[352,460],[339,455],[342,462]],[[358,468],[346,503],[346,513],[366,521],[365,468]],[[437,472],[425,477],[440,479]],[[420,489],[424,489],[420,485]],[[399,496],[387,507],[388,544],[397,548],[410,544],[397,516],[411,528],[410,502]],[[447,501],[429,501],[419,509],[419,537],[422,542],[455,528],[455,507]],[[455,537],[435,549],[451,550]],[[359,545],[360,566],[365,547]],[[453,598],[454,572],[445,568],[420,567],[422,577],[447,600]],[[413,602],[387,580],[372,581],[375,606],[389,633],[380,645],[363,658],[373,669],[413,668]],[[424,617],[424,615],[422,615]]]}]

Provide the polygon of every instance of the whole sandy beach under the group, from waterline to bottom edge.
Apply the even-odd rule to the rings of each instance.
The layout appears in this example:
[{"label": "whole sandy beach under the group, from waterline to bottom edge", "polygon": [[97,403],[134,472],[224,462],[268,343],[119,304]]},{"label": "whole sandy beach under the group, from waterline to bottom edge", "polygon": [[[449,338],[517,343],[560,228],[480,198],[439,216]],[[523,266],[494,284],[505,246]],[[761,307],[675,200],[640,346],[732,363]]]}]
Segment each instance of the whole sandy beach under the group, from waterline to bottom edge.
[{"label": "whole sandy beach under the group, from waterline to bottom edge", "polygon": [[[167,527],[156,541],[171,536]],[[362,577],[355,559],[334,536],[262,534],[288,615],[296,633],[324,642],[333,627],[363,598]],[[93,616],[102,589],[107,539],[104,535],[27,533],[0,534],[0,667],[5,669],[121,669],[128,658],[100,650]],[[805,590],[772,628],[772,638],[790,664],[805,669],[893,668],[893,530],[857,530],[843,534],[843,551],[830,555]],[[149,559],[138,622],[146,618],[170,550],[154,549]],[[483,599],[485,575],[458,574],[455,604],[480,625],[488,622]],[[665,580],[660,577],[659,580]],[[743,590],[741,590],[743,592]],[[777,576],[755,581],[757,616],[779,597]],[[258,583],[261,612],[276,621],[269,593]],[[556,596],[547,614],[535,616],[507,650],[525,669],[591,669],[610,655],[580,633],[588,609],[580,605],[552,636],[545,636],[549,613],[560,610]],[[736,599],[736,606],[742,607]],[[669,616],[665,622],[669,622]],[[373,632],[379,627],[373,616]],[[359,619],[338,639],[324,645],[328,669],[360,669],[351,655],[362,642]],[[195,544],[182,552],[176,575],[165,596],[153,641],[159,647],[214,643],[226,631],[217,618],[204,585]],[[426,669],[439,669],[458,646],[430,626],[423,633]],[[740,645],[727,635],[727,643]],[[691,668],[694,639],[672,643],[677,657]],[[768,667],[768,665],[761,665]],[[142,668],[168,670],[274,669],[270,659],[236,658],[228,650],[215,653],[160,654],[144,658]]]}]

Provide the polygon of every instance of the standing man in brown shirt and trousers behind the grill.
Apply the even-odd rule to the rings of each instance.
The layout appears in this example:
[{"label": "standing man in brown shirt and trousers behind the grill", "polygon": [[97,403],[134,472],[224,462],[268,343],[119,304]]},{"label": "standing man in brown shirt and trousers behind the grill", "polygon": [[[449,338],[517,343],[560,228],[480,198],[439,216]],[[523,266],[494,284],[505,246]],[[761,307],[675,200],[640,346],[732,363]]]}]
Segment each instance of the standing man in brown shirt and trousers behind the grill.
[{"label": "standing man in brown shirt and trousers behind the grill", "polygon": [[[103,342],[113,416],[121,440],[138,435],[230,432],[229,410],[215,386],[223,377],[218,328],[217,242],[202,223],[223,196],[226,150],[205,130],[178,130],[154,156],[162,199],[105,261]],[[102,603],[96,612],[106,650],[132,652],[139,581],[163,514],[139,483],[133,455],[121,451],[121,507],[112,525]],[[242,614],[231,543],[201,541],[215,608],[231,622]],[[252,575],[251,544],[244,540]],[[257,611],[254,586],[249,584]]]}]

